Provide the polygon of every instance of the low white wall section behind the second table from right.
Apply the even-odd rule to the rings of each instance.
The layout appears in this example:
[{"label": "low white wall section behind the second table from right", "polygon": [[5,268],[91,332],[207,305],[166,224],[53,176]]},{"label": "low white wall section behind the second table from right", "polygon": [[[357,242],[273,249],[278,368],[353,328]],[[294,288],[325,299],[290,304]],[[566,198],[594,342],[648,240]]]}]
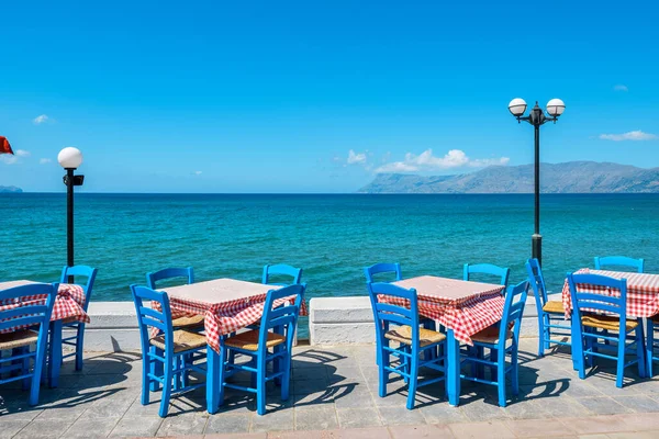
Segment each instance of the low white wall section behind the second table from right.
[{"label": "low white wall section behind the second table from right", "polygon": [[[551,300],[560,300],[560,295]],[[521,337],[538,336],[537,317],[535,299],[528,297]],[[310,302],[309,335],[310,344],[317,346],[375,342],[376,328],[369,297],[313,297]]]}]

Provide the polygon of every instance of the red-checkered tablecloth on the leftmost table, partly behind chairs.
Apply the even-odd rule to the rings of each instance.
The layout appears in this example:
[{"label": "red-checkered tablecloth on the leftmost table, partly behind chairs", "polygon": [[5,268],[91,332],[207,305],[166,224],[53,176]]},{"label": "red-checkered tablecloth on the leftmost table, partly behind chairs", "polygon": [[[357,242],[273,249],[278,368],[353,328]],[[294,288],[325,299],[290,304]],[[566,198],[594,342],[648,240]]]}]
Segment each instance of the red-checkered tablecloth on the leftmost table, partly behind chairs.
[{"label": "red-checkered tablecloth on the leftmost table, partly behind chairs", "polygon": [[[23,296],[18,301],[0,303],[0,311],[20,308],[22,306],[43,304],[44,295]],[[60,283],[57,297],[53,304],[51,322],[74,319],[76,322],[89,323],[89,315],[82,308],[85,306],[85,290],[80,285]],[[2,333],[11,333],[20,328],[9,328]]]}]

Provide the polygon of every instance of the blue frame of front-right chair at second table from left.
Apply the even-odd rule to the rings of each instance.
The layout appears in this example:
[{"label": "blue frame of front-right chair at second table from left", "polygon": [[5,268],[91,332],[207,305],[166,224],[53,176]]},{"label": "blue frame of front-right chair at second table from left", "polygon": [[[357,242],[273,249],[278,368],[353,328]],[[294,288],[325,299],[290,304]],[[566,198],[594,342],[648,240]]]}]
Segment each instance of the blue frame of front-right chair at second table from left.
[{"label": "blue frame of front-right chair at second table from left", "polygon": [[[254,331],[258,331],[258,349],[256,351],[227,346],[225,344],[225,338],[220,339],[222,352],[219,362],[221,364],[224,363],[225,367],[220,367],[221,372],[219,373],[217,385],[222,389],[230,387],[255,393],[256,410],[258,415],[265,415],[266,413],[266,383],[268,381],[280,378],[281,399],[287,401],[290,396],[289,382],[291,378],[293,338],[298,326],[298,317],[300,316],[300,307],[304,300],[305,288],[304,284],[293,284],[279,290],[268,291],[264,304],[264,314],[260,319],[260,326],[258,329],[253,329]],[[295,300],[275,307],[276,301],[289,296],[294,296]],[[267,347],[268,334],[271,331],[286,337],[286,341],[280,345],[278,349],[268,349]],[[232,352],[248,356],[250,357],[250,360],[244,364],[236,364],[231,360],[233,358]],[[227,353],[230,360],[225,362],[224,359]],[[273,362],[276,359],[280,360],[280,367],[273,368],[272,372],[268,372],[268,363]],[[228,376],[238,371],[247,371],[252,374],[252,384],[249,386],[226,382]],[[222,392],[222,390],[220,392]],[[206,396],[212,399],[212,395]],[[217,404],[222,405],[222,399],[220,399]],[[215,409],[215,406],[213,406],[213,409]]]}]

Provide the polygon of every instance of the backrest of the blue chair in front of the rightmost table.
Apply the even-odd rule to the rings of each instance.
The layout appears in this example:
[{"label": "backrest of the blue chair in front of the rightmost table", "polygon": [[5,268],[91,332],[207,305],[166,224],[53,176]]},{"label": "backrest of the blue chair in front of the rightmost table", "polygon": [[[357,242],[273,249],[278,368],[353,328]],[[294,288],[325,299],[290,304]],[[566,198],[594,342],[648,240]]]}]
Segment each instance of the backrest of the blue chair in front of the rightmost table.
[{"label": "backrest of the blue chair in front of the rightmost table", "polygon": [[[568,284],[572,297],[572,318],[581,322],[581,309],[613,313],[619,315],[621,327],[627,324],[627,280],[600,274],[568,273]],[[590,290],[590,291],[589,291]],[[593,293],[592,291],[596,291]]]}]

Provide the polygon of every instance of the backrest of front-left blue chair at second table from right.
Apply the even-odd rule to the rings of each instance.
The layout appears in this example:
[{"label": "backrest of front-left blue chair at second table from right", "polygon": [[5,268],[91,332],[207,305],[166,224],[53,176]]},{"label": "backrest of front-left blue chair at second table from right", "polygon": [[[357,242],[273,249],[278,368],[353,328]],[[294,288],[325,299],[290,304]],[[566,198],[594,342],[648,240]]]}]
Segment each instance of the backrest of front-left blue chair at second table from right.
[{"label": "backrest of front-left blue chair at second table from right", "polygon": [[[406,290],[402,286],[387,282],[367,283],[368,295],[371,301],[378,341],[381,342],[384,337],[384,330],[389,324],[406,325],[412,327],[412,347],[418,349],[418,304],[416,290]],[[380,302],[378,295],[394,297],[403,305]]]}]

